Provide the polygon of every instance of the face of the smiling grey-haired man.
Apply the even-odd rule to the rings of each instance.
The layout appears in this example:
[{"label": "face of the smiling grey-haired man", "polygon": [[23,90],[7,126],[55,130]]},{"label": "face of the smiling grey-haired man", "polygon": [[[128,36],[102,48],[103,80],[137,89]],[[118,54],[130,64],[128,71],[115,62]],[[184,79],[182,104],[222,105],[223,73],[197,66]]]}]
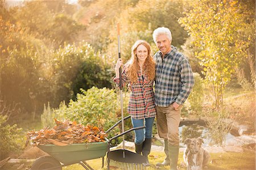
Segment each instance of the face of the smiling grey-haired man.
[{"label": "face of the smiling grey-haired man", "polygon": [[164,34],[160,34],[156,37],[156,45],[163,55],[166,55],[169,51],[171,51],[171,42]]}]

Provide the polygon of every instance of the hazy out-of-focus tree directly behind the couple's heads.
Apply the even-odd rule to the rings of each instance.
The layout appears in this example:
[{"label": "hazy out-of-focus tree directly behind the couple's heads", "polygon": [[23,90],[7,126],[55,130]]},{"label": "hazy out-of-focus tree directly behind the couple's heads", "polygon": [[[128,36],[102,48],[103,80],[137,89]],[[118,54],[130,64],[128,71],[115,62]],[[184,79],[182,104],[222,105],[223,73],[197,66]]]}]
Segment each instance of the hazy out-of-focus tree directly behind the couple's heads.
[{"label": "hazy out-of-focus tree directly behind the couple's heads", "polygon": [[[131,56],[131,46],[138,39],[147,40],[156,52],[156,45],[152,38],[155,28],[168,27],[172,31],[172,44],[180,47],[187,38],[187,32],[177,22],[183,16],[182,11],[186,6],[184,1],[149,1],[141,0],[126,9],[114,18],[114,23],[119,22],[121,26],[121,53],[127,60]],[[186,6],[187,7],[187,6]],[[109,35],[109,45],[105,49],[109,56],[117,56],[117,28],[112,24]]]}]

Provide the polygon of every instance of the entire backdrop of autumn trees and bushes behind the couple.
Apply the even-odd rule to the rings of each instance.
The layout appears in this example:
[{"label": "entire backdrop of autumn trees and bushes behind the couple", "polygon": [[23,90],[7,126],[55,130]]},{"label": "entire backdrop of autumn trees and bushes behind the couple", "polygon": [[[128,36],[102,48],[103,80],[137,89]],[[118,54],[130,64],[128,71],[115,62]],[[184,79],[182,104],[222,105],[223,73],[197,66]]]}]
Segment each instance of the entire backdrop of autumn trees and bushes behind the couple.
[{"label": "entire backdrop of autumn trees and bushes behind the couple", "polygon": [[[3,122],[10,127],[41,122],[41,118],[44,126],[51,126],[53,117],[96,123],[104,129],[113,125],[120,118],[119,94],[112,82],[118,58],[117,22],[125,61],[138,39],[151,44],[153,55],[157,49],[152,32],[157,27],[170,28],[172,44],[198,73],[198,86],[184,108],[192,115],[200,115],[203,87],[212,88],[212,92],[204,90],[203,101],[210,102],[207,111],[214,110],[212,103],[223,105],[226,89],[255,87],[253,0],[12,4],[0,0],[0,109],[5,108],[0,114],[7,116]],[[253,112],[251,117],[255,117]]]}]

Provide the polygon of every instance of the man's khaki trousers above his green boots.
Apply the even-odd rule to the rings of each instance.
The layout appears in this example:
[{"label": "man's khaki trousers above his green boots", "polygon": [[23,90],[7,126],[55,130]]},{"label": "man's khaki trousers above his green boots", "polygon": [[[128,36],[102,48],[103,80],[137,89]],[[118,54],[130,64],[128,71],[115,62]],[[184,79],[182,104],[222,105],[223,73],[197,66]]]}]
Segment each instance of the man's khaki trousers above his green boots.
[{"label": "man's khaki trousers above his green boots", "polygon": [[171,105],[167,107],[156,106],[156,125],[158,135],[160,138],[168,139],[168,144],[179,146],[179,124],[180,124],[179,110],[174,110]]}]

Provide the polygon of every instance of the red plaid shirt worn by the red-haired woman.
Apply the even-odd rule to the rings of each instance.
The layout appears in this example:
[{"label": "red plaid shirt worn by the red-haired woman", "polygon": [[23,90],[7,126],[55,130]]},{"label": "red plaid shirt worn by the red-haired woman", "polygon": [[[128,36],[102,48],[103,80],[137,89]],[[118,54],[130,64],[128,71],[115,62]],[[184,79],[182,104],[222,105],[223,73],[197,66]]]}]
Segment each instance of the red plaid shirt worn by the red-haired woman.
[{"label": "red plaid shirt worn by the red-haired woman", "polygon": [[[126,65],[122,71],[122,86],[130,84],[131,93],[127,112],[134,119],[152,118],[156,116],[153,84],[154,81],[148,81],[147,76],[138,72],[136,84],[131,84],[126,75]],[[114,78],[114,82],[119,86],[119,78]]]}]

